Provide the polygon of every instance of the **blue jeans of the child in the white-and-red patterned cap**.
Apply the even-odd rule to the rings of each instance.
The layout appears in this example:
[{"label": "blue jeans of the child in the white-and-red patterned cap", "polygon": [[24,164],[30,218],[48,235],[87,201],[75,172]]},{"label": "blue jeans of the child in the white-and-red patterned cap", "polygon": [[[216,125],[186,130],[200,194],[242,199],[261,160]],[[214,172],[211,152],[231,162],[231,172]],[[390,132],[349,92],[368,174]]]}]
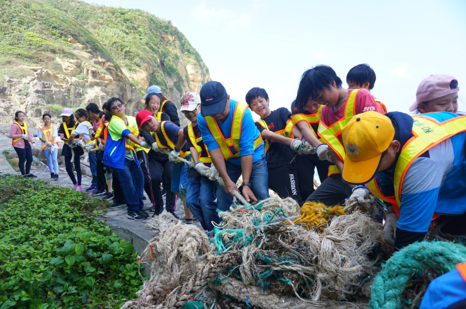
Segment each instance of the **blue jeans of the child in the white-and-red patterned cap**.
[{"label": "blue jeans of the child in the white-and-red patterned cap", "polygon": [[217,182],[211,181],[205,176],[199,175],[198,177],[188,178],[186,182],[186,206],[206,231],[214,228],[212,221],[216,223],[220,221],[216,211],[216,191]]}]

